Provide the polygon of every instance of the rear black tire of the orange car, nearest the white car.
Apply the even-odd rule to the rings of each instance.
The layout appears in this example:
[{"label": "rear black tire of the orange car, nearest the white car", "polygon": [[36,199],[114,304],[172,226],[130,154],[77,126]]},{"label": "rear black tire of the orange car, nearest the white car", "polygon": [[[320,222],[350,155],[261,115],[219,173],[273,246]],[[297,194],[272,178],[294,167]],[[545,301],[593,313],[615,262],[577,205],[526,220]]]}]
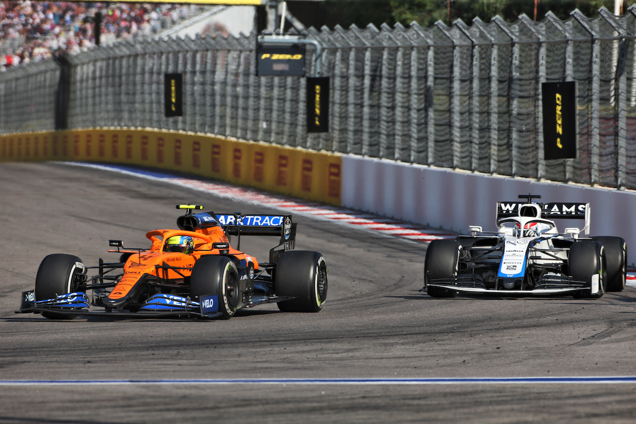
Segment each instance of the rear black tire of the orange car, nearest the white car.
[{"label": "rear black tire of the orange car, nearest the white car", "polygon": [[294,299],[278,302],[283,312],[319,312],[327,299],[327,264],[317,251],[284,251],[275,271],[275,292]]}]

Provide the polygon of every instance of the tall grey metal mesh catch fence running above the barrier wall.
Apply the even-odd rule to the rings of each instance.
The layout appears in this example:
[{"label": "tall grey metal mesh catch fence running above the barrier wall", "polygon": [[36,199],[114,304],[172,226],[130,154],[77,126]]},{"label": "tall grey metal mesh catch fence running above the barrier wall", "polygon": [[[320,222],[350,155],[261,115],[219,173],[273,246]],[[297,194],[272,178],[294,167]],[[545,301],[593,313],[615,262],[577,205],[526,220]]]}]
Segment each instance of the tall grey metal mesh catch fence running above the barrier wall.
[{"label": "tall grey metal mesh catch fence running above the barrier wall", "polygon": [[[331,78],[329,132],[306,83],[256,76],[256,35],[146,39],[68,57],[68,126],[150,127],[487,174],[636,188],[636,8],[562,21],[310,29],[307,76]],[[183,74],[183,116],[163,79]],[[55,62],[0,73],[0,132],[55,128]],[[544,160],[541,83],[577,82],[577,157]],[[59,97],[59,95],[57,96]]]}]

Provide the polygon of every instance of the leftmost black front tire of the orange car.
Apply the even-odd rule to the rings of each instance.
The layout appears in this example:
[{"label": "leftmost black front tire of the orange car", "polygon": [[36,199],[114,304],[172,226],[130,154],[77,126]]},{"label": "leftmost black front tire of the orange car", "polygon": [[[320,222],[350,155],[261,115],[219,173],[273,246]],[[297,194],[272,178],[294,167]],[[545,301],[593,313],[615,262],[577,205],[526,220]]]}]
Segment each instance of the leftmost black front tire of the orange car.
[{"label": "leftmost black front tire of the orange car", "polygon": [[[64,253],[55,253],[45,257],[39,265],[36,275],[36,300],[54,299],[59,295],[73,293],[76,290],[75,276],[81,273],[76,265],[81,259]],[[51,320],[72,320],[73,314],[43,312]]]}]

